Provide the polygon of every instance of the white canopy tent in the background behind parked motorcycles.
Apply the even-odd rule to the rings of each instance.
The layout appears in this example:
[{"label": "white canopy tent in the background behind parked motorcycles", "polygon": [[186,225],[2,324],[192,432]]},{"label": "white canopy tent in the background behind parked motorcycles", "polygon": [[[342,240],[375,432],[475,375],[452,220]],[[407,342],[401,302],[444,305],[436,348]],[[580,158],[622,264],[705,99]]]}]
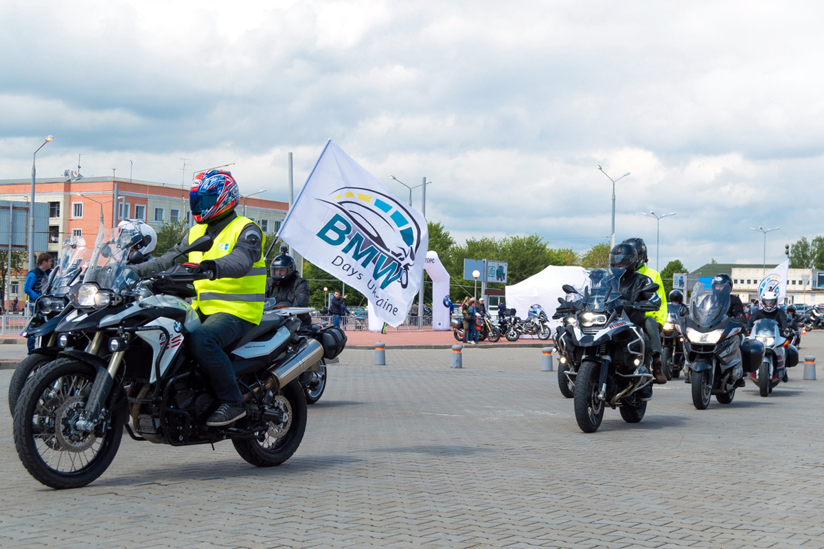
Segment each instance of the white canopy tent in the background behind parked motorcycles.
[{"label": "white canopy tent in the background behind parked motorcycles", "polygon": [[544,309],[547,318],[552,319],[558,308],[558,298],[565,299],[561,286],[569,284],[578,291],[588,285],[587,269],[583,267],[556,267],[550,265],[543,271],[506,287],[506,304],[508,309],[516,309],[516,315],[526,319],[534,305]]}]

